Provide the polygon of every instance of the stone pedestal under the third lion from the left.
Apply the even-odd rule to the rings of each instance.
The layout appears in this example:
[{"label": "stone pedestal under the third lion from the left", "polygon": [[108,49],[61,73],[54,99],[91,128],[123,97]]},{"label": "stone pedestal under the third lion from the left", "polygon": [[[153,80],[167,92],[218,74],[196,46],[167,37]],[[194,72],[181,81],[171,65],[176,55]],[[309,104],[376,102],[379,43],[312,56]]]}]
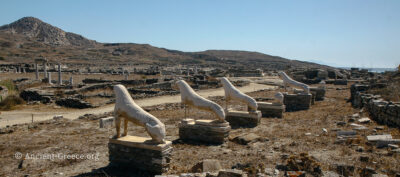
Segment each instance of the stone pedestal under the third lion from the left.
[{"label": "stone pedestal under the third lion from the left", "polygon": [[232,127],[256,127],[261,119],[261,111],[226,111],[226,121]]}]

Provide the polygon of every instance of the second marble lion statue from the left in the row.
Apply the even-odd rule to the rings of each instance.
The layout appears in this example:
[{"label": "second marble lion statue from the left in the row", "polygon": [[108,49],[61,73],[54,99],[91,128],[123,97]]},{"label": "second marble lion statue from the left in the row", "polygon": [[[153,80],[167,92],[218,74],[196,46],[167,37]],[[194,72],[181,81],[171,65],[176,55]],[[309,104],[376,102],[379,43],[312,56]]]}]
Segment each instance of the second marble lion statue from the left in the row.
[{"label": "second marble lion statue from the left in the row", "polygon": [[219,121],[225,122],[225,112],[221,106],[198,95],[184,80],[176,83],[179,86],[183,104],[214,113]]}]

